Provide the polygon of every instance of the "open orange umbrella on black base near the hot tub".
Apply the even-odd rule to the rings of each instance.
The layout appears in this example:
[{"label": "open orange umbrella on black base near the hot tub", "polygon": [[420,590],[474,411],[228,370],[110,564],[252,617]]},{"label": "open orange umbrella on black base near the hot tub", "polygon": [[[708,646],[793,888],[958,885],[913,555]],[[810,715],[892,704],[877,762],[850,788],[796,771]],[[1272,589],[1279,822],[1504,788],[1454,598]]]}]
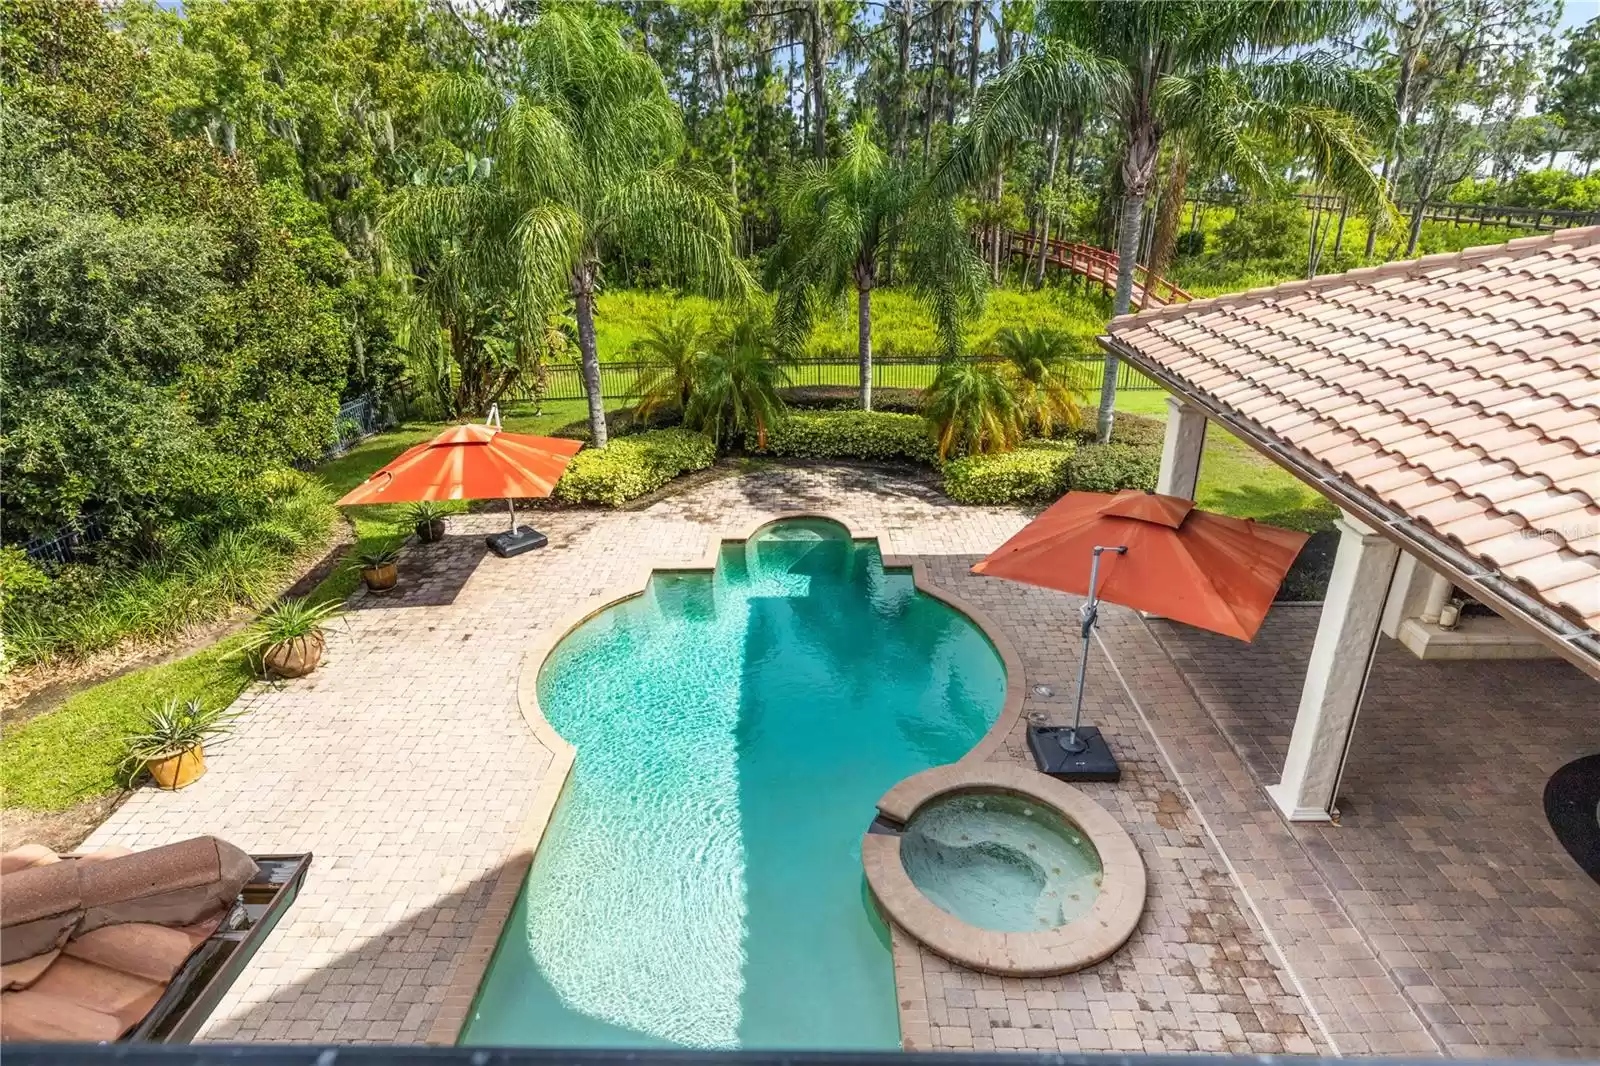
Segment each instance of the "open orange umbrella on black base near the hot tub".
[{"label": "open orange umbrella on black base near the hot tub", "polygon": [[[1067,493],[973,567],[973,573],[990,578],[1088,597],[1077,711],[1061,736],[1069,765],[1048,771],[1115,779],[1115,760],[1099,731],[1080,727],[1090,637],[1101,599],[1250,640],[1306,539],[1306,533],[1197,511],[1194,501],[1181,496],[1138,490]],[[1030,730],[1030,741],[1032,735]],[[1040,755],[1037,746],[1034,754]]]}]

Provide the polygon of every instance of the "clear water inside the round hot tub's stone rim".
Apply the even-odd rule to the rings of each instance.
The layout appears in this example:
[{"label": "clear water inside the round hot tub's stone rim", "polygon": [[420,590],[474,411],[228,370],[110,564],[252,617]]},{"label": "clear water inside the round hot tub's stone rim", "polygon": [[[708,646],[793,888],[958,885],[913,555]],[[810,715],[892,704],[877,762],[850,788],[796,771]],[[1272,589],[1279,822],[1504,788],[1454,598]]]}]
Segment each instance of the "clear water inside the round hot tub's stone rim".
[{"label": "clear water inside the round hot tub's stone rim", "polygon": [[1037,933],[1088,914],[1101,861],[1083,832],[1037,800],[955,792],[923,805],[901,834],[910,884],[978,928]]}]

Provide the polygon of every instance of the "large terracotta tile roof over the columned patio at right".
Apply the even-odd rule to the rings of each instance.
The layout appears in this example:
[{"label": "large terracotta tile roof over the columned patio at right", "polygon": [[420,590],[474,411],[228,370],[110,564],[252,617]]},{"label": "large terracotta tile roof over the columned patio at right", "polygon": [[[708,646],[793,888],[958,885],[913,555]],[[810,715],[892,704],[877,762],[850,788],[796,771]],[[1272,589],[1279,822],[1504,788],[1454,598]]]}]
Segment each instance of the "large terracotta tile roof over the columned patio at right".
[{"label": "large terracotta tile roof over the columned patio at right", "polygon": [[1110,335],[1600,632],[1600,227],[1173,304]]}]

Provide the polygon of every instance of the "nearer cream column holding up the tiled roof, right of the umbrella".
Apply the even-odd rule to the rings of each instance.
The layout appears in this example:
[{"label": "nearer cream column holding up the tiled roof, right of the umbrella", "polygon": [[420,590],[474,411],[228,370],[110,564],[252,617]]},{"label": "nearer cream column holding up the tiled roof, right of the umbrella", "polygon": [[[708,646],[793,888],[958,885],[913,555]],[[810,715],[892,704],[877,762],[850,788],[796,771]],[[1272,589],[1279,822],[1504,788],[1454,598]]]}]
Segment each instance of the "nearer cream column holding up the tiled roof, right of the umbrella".
[{"label": "nearer cream column holding up the tiled roof, right of the umbrella", "polygon": [[1330,821],[1355,712],[1398,549],[1349,514],[1339,515],[1339,551],[1306,667],[1283,779],[1267,794],[1290,821]]}]

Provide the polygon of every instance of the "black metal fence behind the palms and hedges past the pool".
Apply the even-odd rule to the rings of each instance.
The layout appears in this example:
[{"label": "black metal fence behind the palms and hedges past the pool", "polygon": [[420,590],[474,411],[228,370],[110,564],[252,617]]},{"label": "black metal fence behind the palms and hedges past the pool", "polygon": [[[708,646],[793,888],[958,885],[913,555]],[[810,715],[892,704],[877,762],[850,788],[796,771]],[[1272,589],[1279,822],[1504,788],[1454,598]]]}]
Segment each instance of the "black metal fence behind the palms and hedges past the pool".
[{"label": "black metal fence behind the palms and hedges past the pool", "polygon": [[[1074,387],[1085,395],[1099,392],[1102,360],[1085,357],[1070,360],[1069,376]],[[861,367],[854,359],[797,359],[786,363],[789,384],[795,387],[843,386],[861,387]],[[638,399],[650,379],[664,373],[662,363],[624,362],[600,363],[600,392],[608,400]],[[939,373],[936,359],[920,355],[883,355],[872,360],[874,389],[926,389]],[[550,363],[544,368],[541,399],[544,400],[582,400],[584,392],[582,368],[576,363]],[[1117,387],[1126,391],[1160,389],[1158,384],[1146,378],[1136,367],[1122,363],[1117,368]],[[534,383],[514,387],[507,400],[534,399]]]}]

